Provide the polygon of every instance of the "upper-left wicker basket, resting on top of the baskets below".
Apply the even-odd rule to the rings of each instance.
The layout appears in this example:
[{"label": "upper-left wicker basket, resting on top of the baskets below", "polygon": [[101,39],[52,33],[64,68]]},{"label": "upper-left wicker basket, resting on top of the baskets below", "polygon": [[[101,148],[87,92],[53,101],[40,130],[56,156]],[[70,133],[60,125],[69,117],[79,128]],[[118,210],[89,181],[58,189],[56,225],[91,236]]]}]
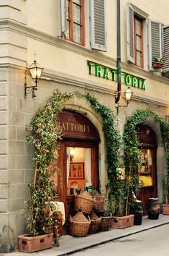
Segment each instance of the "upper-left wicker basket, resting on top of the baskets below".
[{"label": "upper-left wicker basket, resting on top of the baskets below", "polygon": [[75,197],[75,210],[81,209],[83,213],[91,213],[95,200],[87,191],[81,191],[79,195]]}]

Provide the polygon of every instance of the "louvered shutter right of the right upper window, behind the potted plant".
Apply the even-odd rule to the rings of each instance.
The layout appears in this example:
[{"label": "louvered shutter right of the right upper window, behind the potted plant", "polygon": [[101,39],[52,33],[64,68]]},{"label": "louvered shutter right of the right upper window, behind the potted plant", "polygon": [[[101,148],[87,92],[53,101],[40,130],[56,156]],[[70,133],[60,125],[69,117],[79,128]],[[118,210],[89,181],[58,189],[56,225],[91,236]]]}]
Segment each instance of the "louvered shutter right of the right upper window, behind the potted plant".
[{"label": "louvered shutter right of the right upper window, behind the potted plant", "polygon": [[161,43],[161,23],[155,20],[149,20],[149,69],[156,70],[152,67],[153,58],[162,57],[162,43]]}]

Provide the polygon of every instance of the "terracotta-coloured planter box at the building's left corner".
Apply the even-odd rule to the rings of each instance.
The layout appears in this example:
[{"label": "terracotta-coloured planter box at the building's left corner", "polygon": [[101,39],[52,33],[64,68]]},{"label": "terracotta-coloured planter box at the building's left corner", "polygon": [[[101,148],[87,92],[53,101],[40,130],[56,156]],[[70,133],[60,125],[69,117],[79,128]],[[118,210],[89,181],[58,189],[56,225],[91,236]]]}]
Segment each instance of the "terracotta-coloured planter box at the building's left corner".
[{"label": "terracotta-coloured planter box at the building's left corner", "polygon": [[29,237],[27,234],[17,236],[20,252],[37,252],[52,247],[53,234]]}]

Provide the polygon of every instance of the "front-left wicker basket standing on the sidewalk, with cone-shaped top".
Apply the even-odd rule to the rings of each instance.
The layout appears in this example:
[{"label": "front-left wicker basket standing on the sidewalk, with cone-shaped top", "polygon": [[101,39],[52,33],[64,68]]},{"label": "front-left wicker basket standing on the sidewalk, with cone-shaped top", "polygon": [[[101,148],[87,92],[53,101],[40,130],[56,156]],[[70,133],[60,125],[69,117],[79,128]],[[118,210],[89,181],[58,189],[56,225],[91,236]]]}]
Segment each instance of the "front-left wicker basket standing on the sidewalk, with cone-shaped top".
[{"label": "front-left wicker basket standing on the sidewalk, with cone-shaped top", "polygon": [[76,216],[74,216],[73,218],[70,216],[69,221],[70,234],[72,236],[87,236],[91,221],[88,221],[82,212],[76,213]]}]

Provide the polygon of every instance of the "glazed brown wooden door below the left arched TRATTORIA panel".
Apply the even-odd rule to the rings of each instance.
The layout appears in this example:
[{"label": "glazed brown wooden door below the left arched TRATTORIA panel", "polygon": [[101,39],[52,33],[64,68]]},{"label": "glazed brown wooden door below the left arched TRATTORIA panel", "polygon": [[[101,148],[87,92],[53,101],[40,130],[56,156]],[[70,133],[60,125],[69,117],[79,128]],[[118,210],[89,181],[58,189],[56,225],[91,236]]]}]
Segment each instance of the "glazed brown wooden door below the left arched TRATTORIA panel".
[{"label": "glazed brown wooden door below the left arched TRATTORIA panel", "polygon": [[[71,148],[74,148],[75,151],[75,155],[73,156],[70,155]],[[86,152],[86,150],[89,152],[88,161],[91,161],[90,181],[85,173],[85,164],[87,163],[84,152]],[[66,223],[68,223],[68,217],[74,214],[75,193],[79,189],[84,189],[86,182],[90,183],[96,189],[99,188],[98,142],[63,141],[60,144],[58,154],[58,168],[60,168],[60,200],[65,204],[65,218]]]}]

